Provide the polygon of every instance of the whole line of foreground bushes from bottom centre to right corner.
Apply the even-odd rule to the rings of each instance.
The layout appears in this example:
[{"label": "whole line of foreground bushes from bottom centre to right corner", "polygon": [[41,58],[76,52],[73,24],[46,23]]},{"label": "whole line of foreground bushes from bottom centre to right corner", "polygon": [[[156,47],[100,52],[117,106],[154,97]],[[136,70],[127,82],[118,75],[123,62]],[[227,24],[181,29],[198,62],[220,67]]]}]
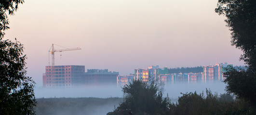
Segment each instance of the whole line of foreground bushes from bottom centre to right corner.
[{"label": "whole line of foreground bushes from bottom centre to right corner", "polygon": [[133,81],[122,88],[124,101],[107,115],[255,115],[256,108],[230,94],[206,92],[182,93],[177,103],[155,82]]}]

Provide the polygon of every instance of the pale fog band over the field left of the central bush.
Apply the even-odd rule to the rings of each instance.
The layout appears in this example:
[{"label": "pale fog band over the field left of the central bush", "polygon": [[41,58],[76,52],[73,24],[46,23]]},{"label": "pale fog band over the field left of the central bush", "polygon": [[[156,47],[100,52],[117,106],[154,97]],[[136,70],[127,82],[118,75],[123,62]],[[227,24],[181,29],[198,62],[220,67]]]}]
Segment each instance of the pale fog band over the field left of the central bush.
[{"label": "pale fog band over the field left of the central bush", "polygon": [[87,86],[76,88],[35,88],[36,98],[60,97],[122,97],[121,87],[117,86]]}]

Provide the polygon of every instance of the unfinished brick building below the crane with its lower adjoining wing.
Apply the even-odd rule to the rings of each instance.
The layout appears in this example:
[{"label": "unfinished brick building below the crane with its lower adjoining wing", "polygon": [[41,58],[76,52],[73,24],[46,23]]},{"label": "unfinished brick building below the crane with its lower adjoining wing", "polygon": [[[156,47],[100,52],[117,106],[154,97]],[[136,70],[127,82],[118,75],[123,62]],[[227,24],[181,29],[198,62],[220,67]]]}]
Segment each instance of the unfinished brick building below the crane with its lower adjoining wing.
[{"label": "unfinished brick building below the crane with its lower adjoining wing", "polygon": [[84,66],[46,66],[43,87],[76,87],[87,85],[116,85],[119,72],[108,69],[87,69]]}]

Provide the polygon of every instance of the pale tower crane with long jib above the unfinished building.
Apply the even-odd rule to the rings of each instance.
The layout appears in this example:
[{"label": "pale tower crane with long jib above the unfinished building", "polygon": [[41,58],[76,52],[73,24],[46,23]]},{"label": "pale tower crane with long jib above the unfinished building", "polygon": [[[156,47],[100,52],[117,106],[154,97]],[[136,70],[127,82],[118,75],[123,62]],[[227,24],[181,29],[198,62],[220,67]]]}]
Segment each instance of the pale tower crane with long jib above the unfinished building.
[{"label": "pale tower crane with long jib above the unfinished building", "polygon": [[[81,48],[77,47],[77,48],[67,48],[67,47],[64,47],[64,46],[60,46],[60,47],[63,47],[65,49],[54,49],[54,45],[53,44],[49,50],[49,52],[51,52],[52,54],[52,66],[54,66],[54,53],[55,52],[62,52],[62,51],[71,51],[71,50],[80,50]],[[56,45],[56,46],[59,46],[59,45]],[[50,59],[49,59],[50,60]],[[49,64],[50,64],[50,61],[49,61]]]}]

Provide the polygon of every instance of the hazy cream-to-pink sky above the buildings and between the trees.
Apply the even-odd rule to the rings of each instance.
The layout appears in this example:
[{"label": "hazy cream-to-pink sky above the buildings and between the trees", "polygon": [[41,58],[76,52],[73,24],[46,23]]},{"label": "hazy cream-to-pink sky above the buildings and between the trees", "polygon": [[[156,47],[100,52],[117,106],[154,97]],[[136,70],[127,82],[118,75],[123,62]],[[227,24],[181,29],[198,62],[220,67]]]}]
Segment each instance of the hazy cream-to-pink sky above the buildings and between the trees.
[{"label": "hazy cream-to-pink sky above the buildings and between the trees", "polygon": [[[239,61],[217,0],[25,0],[5,39],[25,45],[27,75],[42,86],[51,45],[55,65],[85,65],[121,75],[151,65],[194,67]],[[55,47],[56,49],[58,47]],[[61,49],[61,48],[59,48]]]}]

